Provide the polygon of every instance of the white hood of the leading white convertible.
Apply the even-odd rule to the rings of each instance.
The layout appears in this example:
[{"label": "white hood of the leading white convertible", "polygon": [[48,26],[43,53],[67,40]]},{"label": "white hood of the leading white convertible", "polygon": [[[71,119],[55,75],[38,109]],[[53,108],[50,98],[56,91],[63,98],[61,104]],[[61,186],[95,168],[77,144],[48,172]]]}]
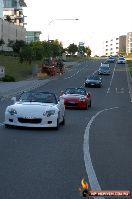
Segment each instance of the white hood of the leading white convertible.
[{"label": "white hood of the leading white convertible", "polygon": [[56,104],[51,103],[39,103],[39,102],[16,102],[15,104],[8,106],[7,109],[13,108],[19,115],[40,115],[47,110],[57,110]]}]

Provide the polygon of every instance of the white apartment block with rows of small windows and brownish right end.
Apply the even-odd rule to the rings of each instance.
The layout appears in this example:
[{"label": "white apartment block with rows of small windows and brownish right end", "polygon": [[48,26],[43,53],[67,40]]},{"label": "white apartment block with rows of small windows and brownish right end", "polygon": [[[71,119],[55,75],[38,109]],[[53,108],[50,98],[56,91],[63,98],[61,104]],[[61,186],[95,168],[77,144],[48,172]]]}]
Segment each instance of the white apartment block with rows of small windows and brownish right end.
[{"label": "white apartment block with rows of small windows and brownish right end", "polygon": [[112,38],[104,43],[104,55],[118,55],[119,52],[126,52],[126,35]]}]

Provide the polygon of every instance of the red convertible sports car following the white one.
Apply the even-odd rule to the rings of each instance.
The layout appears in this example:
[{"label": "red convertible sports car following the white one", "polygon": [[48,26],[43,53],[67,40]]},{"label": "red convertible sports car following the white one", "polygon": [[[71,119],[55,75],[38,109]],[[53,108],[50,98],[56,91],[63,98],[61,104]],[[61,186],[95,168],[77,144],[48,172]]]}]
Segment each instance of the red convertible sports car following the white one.
[{"label": "red convertible sports car following the white one", "polygon": [[60,96],[66,108],[88,109],[91,107],[91,93],[85,88],[67,88]]}]

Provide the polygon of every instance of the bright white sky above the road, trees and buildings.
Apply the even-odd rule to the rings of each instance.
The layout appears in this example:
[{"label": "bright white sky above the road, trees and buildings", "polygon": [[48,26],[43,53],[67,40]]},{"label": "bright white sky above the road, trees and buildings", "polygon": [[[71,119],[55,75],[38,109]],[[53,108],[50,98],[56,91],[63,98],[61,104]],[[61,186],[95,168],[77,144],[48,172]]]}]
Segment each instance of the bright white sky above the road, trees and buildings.
[{"label": "bright white sky above the road, trees and buildings", "polygon": [[[47,40],[48,35],[49,39],[58,39],[64,47],[70,43],[78,45],[79,42],[84,42],[93,54],[102,54],[103,41],[132,32],[132,0],[25,2],[26,29],[41,31],[41,40]],[[79,20],[56,20],[75,18]]]}]

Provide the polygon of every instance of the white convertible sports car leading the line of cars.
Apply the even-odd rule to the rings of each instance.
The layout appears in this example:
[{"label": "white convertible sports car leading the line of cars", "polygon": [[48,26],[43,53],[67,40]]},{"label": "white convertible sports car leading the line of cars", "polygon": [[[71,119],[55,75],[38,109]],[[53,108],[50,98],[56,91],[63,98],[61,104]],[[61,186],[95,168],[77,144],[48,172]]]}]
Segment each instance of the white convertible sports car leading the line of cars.
[{"label": "white convertible sports car leading the line of cars", "polygon": [[55,127],[65,123],[64,100],[50,92],[24,92],[18,101],[6,108],[5,127]]}]

